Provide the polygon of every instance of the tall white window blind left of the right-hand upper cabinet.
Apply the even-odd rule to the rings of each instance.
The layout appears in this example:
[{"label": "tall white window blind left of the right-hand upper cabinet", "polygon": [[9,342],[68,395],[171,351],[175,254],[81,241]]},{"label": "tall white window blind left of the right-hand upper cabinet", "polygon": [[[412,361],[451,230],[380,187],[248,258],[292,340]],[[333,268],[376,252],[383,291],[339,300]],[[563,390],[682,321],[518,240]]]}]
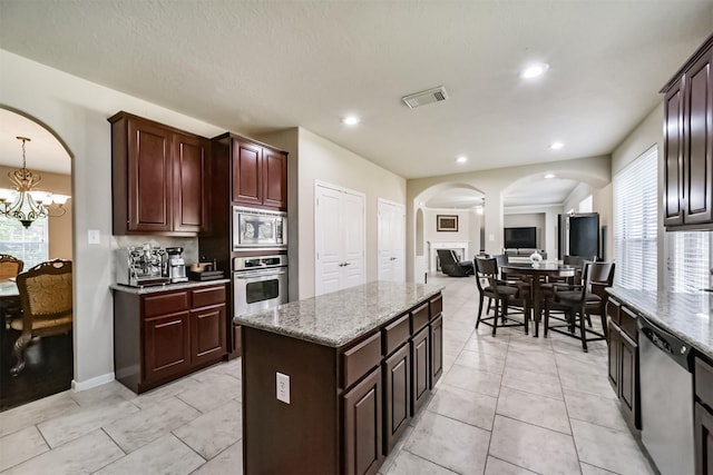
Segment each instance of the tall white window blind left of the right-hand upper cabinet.
[{"label": "tall white window blind left of the right-hand upper cabinet", "polygon": [[614,177],[615,285],[656,290],[658,148],[646,150]]}]

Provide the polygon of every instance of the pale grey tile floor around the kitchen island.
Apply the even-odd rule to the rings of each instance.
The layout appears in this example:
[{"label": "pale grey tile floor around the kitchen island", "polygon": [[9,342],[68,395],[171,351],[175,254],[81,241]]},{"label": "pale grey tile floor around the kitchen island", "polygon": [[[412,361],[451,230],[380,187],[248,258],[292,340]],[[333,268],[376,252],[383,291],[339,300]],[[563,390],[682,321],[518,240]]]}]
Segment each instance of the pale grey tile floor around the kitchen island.
[{"label": "pale grey tile floor around the kitchen island", "polygon": [[[380,469],[398,474],[655,473],[606,380],[606,346],[475,330],[472,278],[443,290],[445,373]],[[118,383],[0,413],[0,473],[242,473],[241,362],[137,396]]]}]

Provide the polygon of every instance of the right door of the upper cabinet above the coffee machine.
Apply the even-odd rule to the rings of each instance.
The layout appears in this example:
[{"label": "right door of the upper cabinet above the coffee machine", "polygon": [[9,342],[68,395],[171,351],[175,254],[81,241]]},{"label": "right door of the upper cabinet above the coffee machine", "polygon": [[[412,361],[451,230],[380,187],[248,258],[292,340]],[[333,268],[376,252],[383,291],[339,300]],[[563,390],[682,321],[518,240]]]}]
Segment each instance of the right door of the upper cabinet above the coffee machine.
[{"label": "right door of the upper cabinet above the coffee machine", "polygon": [[199,232],[207,228],[209,195],[208,142],[195,136],[174,135],[174,230]]}]

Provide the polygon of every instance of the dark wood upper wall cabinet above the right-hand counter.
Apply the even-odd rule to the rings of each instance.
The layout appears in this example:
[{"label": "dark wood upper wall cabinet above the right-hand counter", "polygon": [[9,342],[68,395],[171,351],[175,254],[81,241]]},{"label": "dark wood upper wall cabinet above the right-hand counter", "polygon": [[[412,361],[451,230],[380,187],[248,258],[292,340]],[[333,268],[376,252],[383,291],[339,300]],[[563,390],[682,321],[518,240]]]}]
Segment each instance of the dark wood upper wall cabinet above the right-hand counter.
[{"label": "dark wood upper wall cabinet above the right-hand counter", "polygon": [[664,225],[713,229],[713,36],[664,97]]}]

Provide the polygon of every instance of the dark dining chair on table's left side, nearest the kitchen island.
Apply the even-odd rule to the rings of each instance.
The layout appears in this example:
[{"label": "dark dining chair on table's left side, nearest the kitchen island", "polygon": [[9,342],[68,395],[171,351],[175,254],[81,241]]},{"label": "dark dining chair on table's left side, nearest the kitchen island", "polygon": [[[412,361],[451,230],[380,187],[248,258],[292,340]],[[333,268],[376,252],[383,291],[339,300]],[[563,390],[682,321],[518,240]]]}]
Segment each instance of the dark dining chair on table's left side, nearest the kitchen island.
[{"label": "dark dining chair on table's left side, nearest the kitchen island", "polygon": [[[476,328],[482,323],[492,327],[492,336],[496,336],[498,327],[516,327],[524,326],[525,334],[529,330],[529,295],[525,283],[518,281],[510,284],[502,280],[498,273],[498,260],[496,257],[477,257],[473,259],[476,268],[476,285],[478,287],[478,297],[480,299],[478,306],[478,319]],[[495,300],[495,314],[492,317],[482,317],[482,307],[485,297],[488,297],[488,309],[490,311],[490,300]],[[521,309],[522,321],[510,318],[508,308],[510,306]],[[498,319],[500,325],[498,325]],[[490,321],[492,320],[492,321]]]}]

